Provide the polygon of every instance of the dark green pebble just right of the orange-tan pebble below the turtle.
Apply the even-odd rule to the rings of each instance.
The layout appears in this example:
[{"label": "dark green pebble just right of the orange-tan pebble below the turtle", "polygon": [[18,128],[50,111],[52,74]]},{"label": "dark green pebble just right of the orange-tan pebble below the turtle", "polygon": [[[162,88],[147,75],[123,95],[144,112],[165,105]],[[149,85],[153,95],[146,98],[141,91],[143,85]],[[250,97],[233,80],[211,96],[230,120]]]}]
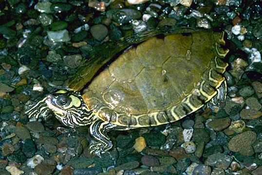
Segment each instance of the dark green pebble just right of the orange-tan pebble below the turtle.
[{"label": "dark green pebble just right of the orange-tan pebble below the turtle", "polygon": [[[161,146],[165,143],[166,137],[161,132],[150,132],[143,134],[148,146]],[[157,139],[156,139],[157,138]]]}]

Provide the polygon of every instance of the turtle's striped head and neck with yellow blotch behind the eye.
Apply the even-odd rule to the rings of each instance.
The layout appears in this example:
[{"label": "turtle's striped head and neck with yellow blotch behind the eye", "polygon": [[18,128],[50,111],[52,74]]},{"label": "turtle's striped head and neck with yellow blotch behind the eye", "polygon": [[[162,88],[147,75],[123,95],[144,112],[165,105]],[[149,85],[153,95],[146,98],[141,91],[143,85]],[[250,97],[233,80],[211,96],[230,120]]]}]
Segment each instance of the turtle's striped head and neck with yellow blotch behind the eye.
[{"label": "turtle's striped head and neck with yellow blotch behind the eye", "polygon": [[66,126],[89,125],[96,120],[93,111],[77,91],[58,90],[47,95],[45,103],[54,112],[57,120]]}]

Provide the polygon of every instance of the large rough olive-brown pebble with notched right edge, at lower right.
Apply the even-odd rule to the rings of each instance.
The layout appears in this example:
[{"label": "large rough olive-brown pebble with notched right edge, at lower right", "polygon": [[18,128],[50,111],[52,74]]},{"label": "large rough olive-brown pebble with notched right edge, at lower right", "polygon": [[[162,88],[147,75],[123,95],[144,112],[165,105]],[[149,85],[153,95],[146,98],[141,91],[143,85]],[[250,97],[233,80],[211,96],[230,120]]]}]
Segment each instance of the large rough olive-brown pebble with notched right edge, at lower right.
[{"label": "large rough olive-brown pebble with notched right edge, at lower right", "polygon": [[243,132],[229,141],[228,149],[239,152],[243,156],[252,156],[254,151],[251,145],[256,141],[256,138],[257,134],[253,131]]}]

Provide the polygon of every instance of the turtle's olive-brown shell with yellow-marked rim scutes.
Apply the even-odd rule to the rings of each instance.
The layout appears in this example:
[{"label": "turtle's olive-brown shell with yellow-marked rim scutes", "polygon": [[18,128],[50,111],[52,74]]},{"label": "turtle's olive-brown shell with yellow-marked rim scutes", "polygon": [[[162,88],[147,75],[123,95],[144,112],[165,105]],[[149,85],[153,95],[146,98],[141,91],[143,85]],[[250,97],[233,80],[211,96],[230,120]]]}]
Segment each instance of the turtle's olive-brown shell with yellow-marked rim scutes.
[{"label": "turtle's olive-brown shell with yellow-marked rim scutes", "polygon": [[174,122],[209,101],[225,80],[212,32],[152,37],[121,54],[84,90],[96,115],[117,125]]}]

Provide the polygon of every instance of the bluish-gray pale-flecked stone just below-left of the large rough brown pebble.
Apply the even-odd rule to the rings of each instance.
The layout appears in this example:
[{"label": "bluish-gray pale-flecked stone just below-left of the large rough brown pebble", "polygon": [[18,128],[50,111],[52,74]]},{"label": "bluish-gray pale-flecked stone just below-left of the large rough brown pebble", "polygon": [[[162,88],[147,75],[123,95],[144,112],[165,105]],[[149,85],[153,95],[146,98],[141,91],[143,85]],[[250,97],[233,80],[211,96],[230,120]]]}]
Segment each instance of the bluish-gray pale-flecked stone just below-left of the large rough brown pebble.
[{"label": "bluish-gray pale-flecked stone just below-left of the large rough brown pebble", "polygon": [[233,158],[228,155],[217,153],[208,156],[205,161],[205,164],[208,166],[222,168],[226,170],[230,166],[232,160]]}]

